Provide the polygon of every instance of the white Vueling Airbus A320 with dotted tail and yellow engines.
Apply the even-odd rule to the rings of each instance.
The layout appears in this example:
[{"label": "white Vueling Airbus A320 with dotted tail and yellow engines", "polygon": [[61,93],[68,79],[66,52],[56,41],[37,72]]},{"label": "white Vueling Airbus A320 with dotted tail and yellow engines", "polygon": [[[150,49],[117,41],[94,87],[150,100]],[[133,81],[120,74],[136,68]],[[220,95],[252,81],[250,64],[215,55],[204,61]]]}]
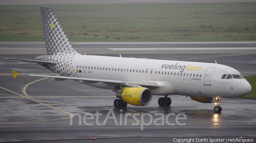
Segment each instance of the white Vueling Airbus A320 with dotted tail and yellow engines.
[{"label": "white Vueling Airbus A320 with dotted tail and yellow engines", "polygon": [[189,96],[201,103],[214,103],[214,112],[221,112],[221,98],[235,98],[249,94],[251,85],[239,71],[222,64],[156,60],[146,58],[81,55],[72,48],[50,7],[40,6],[47,55],[34,60],[61,76],[18,74],[50,77],[53,81],[71,79],[79,83],[116,92],[115,108],[127,103],[145,106],[152,95],[160,107],[170,106],[169,95]]}]

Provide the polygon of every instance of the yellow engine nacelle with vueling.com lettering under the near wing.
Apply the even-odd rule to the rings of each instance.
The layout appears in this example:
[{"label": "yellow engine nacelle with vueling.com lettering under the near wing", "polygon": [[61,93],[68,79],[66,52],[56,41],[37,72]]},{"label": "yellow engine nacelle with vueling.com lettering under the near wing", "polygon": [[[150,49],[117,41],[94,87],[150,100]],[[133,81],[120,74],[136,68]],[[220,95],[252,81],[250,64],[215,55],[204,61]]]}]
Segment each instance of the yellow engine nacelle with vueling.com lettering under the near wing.
[{"label": "yellow engine nacelle with vueling.com lettering under the near wing", "polygon": [[117,92],[115,96],[135,106],[148,105],[153,97],[151,90],[145,87],[125,87],[122,92]]}]

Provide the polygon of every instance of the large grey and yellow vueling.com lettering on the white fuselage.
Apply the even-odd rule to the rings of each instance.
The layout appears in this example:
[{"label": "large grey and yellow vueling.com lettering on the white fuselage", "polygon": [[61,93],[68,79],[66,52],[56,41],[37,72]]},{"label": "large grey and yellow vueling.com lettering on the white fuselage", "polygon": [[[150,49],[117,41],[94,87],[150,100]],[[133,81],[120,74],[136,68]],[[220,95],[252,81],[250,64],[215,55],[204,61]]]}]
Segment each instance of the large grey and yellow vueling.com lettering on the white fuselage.
[{"label": "large grey and yellow vueling.com lettering on the white fuselage", "polygon": [[[201,70],[201,66],[189,66],[190,64],[188,64],[188,66],[181,66],[181,65],[177,65],[178,63],[176,63],[175,65],[170,65],[170,64],[162,64],[162,68],[165,69],[173,69],[173,70],[181,70],[180,72],[182,73],[185,69],[187,70],[191,70],[191,71],[200,71]],[[186,68],[187,67],[187,68]]]}]

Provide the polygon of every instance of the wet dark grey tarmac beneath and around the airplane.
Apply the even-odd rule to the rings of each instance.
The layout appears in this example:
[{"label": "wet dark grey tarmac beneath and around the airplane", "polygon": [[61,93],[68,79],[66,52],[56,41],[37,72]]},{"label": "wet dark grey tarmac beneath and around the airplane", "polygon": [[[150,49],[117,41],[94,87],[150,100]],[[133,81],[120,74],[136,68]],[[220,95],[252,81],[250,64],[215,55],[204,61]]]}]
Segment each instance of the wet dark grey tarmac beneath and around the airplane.
[{"label": "wet dark grey tarmac beneath and around the airplane", "polygon": [[[125,45],[128,44],[122,46]],[[19,46],[22,47],[22,45]],[[128,46],[132,47],[132,45]],[[253,46],[255,44],[251,45]],[[98,55],[119,56],[119,54]],[[194,138],[195,140],[205,138],[208,139],[205,142],[209,142],[210,138],[232,139],[240,136],[245,139],[254,139],[254,142],[256,140],[255,99],[221,99],[222,112],[214,113],[213,103],[203,104],[192,101],[189,97],[175,95],[170,96],[172,99],[170,107],[159,107],[157,103],[159,96],[154,96],[147,106],[128,105],[121,111],[113,108],[113,101],[116,97],[111,90],[93,88],[69,80],[40,80],[43,78],[25,76],[13,79],[12,69],[18,73],[53,73],[38,64],[3,59],[5,57],[34,59],[36,56],[39,55],[0,55],[0,142],[174,142],[176,141],[174,138]],[[253,53],[193,54],[185,51],[182,54],[122,54],[122,56],[213,63],[216,60],[218,64],[225,64],[237,70],[242,69],[243,75],[256,75],[256,59]],[[29,97],[24,94],[24,86],[26,86],[25,93]],[[104,123],[108,112],[112,109],[118,125],[115,125],[113,119],[108,119],[105,125],[96,125],[95,115],[94,120],[86,119],[93,125],[85,125],[83,119],[79,125],[78,116],[73,117],[73,125],[70,125],[70,113],[79,113],[83,118],[86,113],[96,114],[98,111],[102,114],[99,116],[99,123]],[[120,119],[121,113],[123,114],[122,120]],[[133,116],[128,116],[127,125],[124,125],[124,114],[127,116],[129,113],[139,114],[136,116],[140,121],[139,125],[132,125],[132,123],[137,123]],[[141,130],[141,116],[145,113],[152,115],[152,121],[160,117],[160,115],[156,116],[156,113],[164,114],[164,125],[151,123],[144,125]],[[166,116],[170,113],[174,113],[175,116],[171,115],[168,123],[174,123],[174,125],[166,123]],[[187,117],[187,119],[179,120],[185,125],[177,124],[176,116],[179,113]],[[145,123],[149,120],[149,116],[144,116]],[[160,121],[156,123],[161,123]],[[91,139],[93,135],[96,140]]]}]

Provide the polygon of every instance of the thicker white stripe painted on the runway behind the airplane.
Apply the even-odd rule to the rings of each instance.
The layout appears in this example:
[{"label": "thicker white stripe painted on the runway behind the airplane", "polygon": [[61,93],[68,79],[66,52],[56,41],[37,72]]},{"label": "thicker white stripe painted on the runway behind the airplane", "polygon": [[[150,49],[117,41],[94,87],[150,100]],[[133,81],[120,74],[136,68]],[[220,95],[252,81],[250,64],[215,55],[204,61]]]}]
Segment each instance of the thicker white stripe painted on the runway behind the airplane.
[{"label": "thicker white stripe painted on the runway behind the airplane", "polygon": [[256,47],[210,47],[210,48],[107,48],[111,50],[255,50]]}]

